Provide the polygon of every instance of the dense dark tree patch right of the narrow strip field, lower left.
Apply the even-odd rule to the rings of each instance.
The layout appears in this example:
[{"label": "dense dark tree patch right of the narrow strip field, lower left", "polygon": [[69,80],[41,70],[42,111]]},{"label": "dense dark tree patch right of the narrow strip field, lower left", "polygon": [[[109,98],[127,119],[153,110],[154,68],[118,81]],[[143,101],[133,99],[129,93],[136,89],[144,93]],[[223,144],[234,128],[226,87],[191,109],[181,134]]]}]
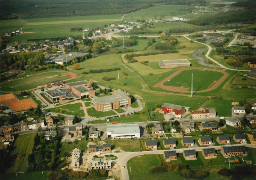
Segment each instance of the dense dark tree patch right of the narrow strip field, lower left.
[{"label": "dense dark tree patch right of the narrow strip field, lower left", "polygon": [[49,141],[44,139],[42,129],[39,127],[34,138],[34,146],[28,157],[28,171],[53,170],[57,167],[61,136],[51,137]]}]

